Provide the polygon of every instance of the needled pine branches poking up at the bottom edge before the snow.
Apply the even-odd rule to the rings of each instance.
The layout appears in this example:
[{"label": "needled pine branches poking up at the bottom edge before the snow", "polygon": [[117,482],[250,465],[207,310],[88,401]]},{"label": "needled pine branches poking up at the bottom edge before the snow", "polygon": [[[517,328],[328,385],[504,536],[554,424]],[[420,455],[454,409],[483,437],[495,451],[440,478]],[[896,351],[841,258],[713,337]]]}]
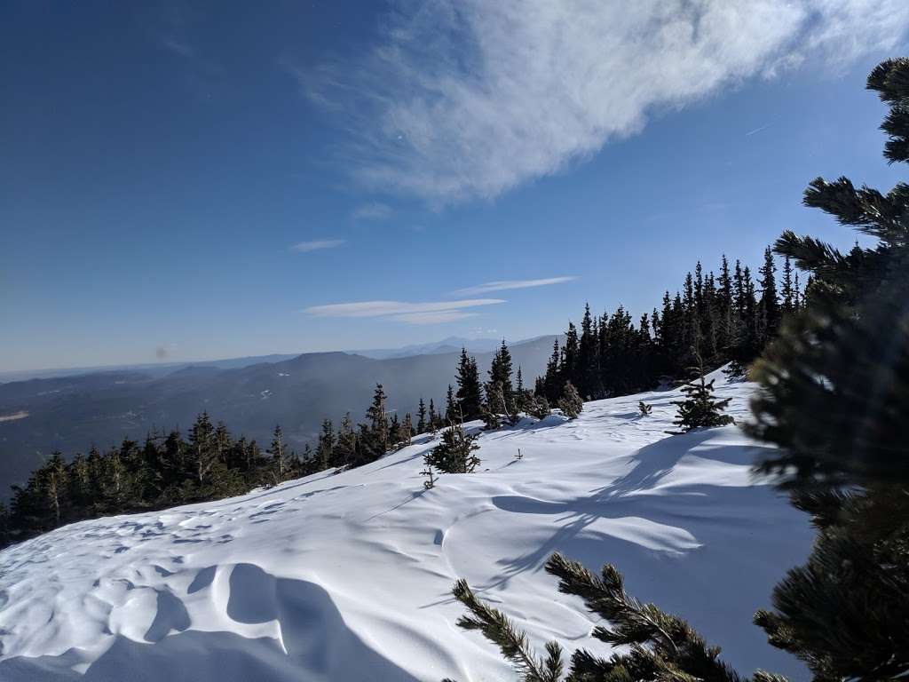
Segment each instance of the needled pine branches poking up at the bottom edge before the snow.
[{"label": "needled pine branches poking up at the bottom edge before the snow", "polygon": [[[695,679],[740,682],[735,671],[719,659],[720,648],[708,647],[704,638],[682,618],[630,597],[624,591],[622,575],[614,566],[607,564],[600,576],[594,576],[581,564],[554,554],[546,562],[546,572],[559,578],[559,592],[581,597],[585,607],[610,624],[610,627],[594,627],[592,634],[596,639],[611,647],[630,647],[627,653],[613,653],[608,659],[579,649],[571,657],[567,677],[563,677],[563,649],[557,642],[548,642],[546,657],[538,657],[524,632],[516,629],[504,613],[478,599],[465,580],[458,580],[452,594],[469,613],[460,617],[457,625],[480,630],[499,647],[524,682],[562,679],[565,682]],[[759,670],[753,680],[784,682],[785,677]]]}]

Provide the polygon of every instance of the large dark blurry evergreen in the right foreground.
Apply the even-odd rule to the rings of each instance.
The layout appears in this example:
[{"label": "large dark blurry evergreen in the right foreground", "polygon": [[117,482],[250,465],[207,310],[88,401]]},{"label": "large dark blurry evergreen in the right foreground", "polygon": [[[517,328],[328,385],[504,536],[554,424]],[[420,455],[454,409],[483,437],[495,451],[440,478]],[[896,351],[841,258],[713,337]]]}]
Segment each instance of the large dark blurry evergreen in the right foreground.
[{"label": "large dark blurry evergreen in the right foreground", "polygon": [[[909,60],[884,62],[868,87],[891,113],[884,155],[909,160]],[[756,366],[753,436],[780,446],[757,468],[812,514],[804,566],[774,588],[755,623],[804,660],[814,679],[909,675],[909,186],[887,195],[846,178],[814,180],[807,206],[876,238],[844,255],[784,233],[779,254],[811,273]],[[768,452],[768,450],[764,450]]]}]

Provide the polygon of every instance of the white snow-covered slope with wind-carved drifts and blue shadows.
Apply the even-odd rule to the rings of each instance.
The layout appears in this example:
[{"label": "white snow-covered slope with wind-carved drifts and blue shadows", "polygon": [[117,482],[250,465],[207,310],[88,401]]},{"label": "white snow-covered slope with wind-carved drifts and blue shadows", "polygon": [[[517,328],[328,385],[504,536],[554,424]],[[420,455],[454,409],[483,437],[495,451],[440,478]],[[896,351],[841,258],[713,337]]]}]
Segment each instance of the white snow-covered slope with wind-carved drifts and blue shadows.
[{"label": "white snow-covered slope with wind-carved drifts and blue shadows", "polygon": [[[744,417],[751,390],[718,394]],[[743,671],[804,679],[751,617],[804,559],[807,519],[754,485],[760,446],[737,427],[667,436],[677,396],[484,433],[482,471],[428,491],[422,439],[353,471],[11,547],[0,553],[0,679],[509,679],[493,647],[454,626],[449,590],[466,577],[535,644],[573,650],[594,622],[542,569],[555,550],[616,564],[635,596],[687,617]],[[638,415],[642,398],[653,415]]]}]

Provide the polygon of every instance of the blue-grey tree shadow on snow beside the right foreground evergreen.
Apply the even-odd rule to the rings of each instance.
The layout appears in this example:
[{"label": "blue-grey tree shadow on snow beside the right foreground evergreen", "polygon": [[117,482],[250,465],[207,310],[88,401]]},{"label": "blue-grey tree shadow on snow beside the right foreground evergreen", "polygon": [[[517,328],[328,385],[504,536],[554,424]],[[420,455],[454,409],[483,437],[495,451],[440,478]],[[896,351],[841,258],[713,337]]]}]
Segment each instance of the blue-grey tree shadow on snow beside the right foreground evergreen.
[{"label": "blue-grey tree shadow on snow beside the right foreground evergreen", "polygon": [[[532,551],[501,559],[498,576],[474,587],[505,587],[526,571],[541,571],[556,551],[594,572],[613,563],[630,594],[688,618],[737,666],[804,677],[791,657],[775,649],[768,654],[762,633],[749,623],[755,608],[769,604],[785,570],[807,555],[814,537],[807,517],[770,486],[693,483],[653,491],[688,454],[740,466],[754,459],[740,445],[711,447],[714,436],[701,431],[644,446],[631,471],[586,496],[494,497],[506,512],[551,515],[554,530]],[[697,446],[703,447],[692,453]]]}]

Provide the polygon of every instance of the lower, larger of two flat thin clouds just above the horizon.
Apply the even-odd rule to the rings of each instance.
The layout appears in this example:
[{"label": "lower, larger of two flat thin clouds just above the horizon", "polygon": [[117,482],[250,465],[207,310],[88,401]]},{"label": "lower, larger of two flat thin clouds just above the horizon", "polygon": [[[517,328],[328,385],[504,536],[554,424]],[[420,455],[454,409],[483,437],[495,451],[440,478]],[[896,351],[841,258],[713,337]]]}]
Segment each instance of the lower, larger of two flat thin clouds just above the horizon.
[{"label": "lower, larger of two flat thin clouds just above the horizon", "polygon": [[435,325],[476,316],[470,308],[505,303],[501,298],[471,298],[460,301],[407,303],[404,301],[358,301],[311,306],[304,312],[319,317],[382,317],[411,325]]}]

